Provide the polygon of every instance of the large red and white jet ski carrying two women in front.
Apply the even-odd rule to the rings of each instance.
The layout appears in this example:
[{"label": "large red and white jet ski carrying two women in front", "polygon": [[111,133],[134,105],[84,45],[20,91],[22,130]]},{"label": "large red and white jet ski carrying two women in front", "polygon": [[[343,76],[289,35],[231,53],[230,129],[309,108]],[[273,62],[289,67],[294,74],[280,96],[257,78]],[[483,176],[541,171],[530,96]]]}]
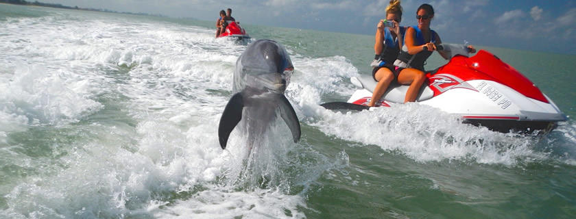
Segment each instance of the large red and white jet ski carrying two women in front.
[{"label": "large red and white jet ski carrying two women in front", "polygon": [[[549,131],[566,116],[551,99],[543,94],[527,77],[512,66],[502,62],[488,51],[468,55],[458,46],[444,44],[444,49],[454,53],[448,64],[428,72],[416,101],[437,107],[444,112],[457,114],[464,123],[481,125],[494,131]],[[459,48],[463,48],[459,45]],[[372,98],[376,81],[372,75],[350,78],[359,87],[348,103],[324,103],[331,110],[365,110]],[[391,84],[376,107],[389,107],[403,103],[408,86]],[[350,104],[352,103],[352,104]]]}]

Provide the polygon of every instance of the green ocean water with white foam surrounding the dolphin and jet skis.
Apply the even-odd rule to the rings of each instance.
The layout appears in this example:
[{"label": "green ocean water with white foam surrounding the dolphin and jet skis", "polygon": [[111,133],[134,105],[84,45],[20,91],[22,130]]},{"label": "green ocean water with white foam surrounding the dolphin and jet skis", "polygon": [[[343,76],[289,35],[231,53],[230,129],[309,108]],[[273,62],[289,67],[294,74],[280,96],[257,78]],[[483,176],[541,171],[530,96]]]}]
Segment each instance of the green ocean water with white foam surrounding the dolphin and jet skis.
[{"label": "green ocean water with white foam surrounding the dolphin and jet skis", "polygon": [[212,25],[0,4],[0,218],[576,217],[575,55],[477,46],[569,116],[525,136],[414,103],[324,110],[370,73],[373,36],[243,25],[289,51],[302,125],[248,154],[217,140],[246,45]]}]

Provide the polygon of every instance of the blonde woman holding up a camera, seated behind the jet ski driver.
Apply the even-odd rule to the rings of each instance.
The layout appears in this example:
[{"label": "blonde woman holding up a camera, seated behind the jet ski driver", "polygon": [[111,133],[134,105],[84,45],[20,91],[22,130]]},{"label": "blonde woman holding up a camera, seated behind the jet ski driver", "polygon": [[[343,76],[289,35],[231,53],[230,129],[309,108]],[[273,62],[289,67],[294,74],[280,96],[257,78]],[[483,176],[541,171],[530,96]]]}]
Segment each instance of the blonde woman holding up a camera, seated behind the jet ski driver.
[{"label": "blonde woman holding up a camera, seated behind the jet ski driver", "polygon": [[405,27],[400,27],[402,21],[402,6],[400,0],[392,0],[386,7],[386,20],[394,23],[394,27],[385,27],[384,20],[380,20],[376,26],[376,42],[374,42],[374,62],[372,67],[372,78],[378,81],[372,99],[368,106],[372,107],[386,91],[390,83],[396,79],[394,74],[394,60],[400,52],[403,44]]}]

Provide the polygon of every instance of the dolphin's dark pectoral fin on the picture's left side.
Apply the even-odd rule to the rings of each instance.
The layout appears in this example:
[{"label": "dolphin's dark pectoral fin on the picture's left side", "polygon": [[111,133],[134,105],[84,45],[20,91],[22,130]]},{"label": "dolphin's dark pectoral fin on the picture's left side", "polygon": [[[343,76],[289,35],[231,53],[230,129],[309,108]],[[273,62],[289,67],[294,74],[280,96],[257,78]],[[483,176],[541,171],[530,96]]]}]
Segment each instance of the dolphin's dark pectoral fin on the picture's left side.
[{"label": "dolphin's dark pectoral fin on the picture's left side", "polygon": [[222,117],[220,117],[220,124],[218,125],[218,139],[222,149],[226,149],[230,132],[234,130],[234,127],[236,127],[242,119],[243,108],[244,102],[241,93],[234,94],[226,104]]}]

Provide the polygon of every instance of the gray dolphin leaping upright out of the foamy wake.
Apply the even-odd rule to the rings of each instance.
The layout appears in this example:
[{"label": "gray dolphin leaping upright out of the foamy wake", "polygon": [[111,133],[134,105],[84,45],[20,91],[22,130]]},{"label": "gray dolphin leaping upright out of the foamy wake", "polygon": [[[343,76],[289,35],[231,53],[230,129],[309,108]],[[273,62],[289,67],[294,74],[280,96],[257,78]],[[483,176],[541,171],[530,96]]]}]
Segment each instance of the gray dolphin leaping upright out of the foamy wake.
[{"label": "gray dolphin leaping upright out of the foamy wake", "polygon": [[259,138],[278,114],[288,125],[294,142],[300,140],[298,116],[284,91],[293,65],[284,47],[272,40],[257,40],[246,48],[236,62],[232,92],[220,118],[218,138],[222,149],[230,132],[243,120],[248,139]]}]

